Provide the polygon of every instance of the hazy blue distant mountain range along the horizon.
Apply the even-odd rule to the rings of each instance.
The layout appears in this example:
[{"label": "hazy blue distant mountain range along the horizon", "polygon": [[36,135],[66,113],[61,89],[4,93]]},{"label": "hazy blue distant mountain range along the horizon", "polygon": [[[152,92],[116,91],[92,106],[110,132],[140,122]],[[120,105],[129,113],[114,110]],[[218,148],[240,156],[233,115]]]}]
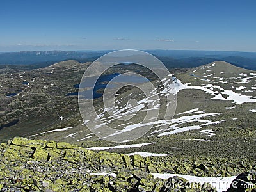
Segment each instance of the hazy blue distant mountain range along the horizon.
[{"label": "hazy blue distant mountain range along the horizon", "polygon": [[[27,65],[26,68],[41,68],[66,60],[81,63],[94,61],[111,52],[105,51],[21,51],[0,53],[0,65]],[[237,51],[186,51],[145,50],[163,61],[168,68],[193,68],[216,60],[227,61],[237,67],[256,70],[256,52]]]}]

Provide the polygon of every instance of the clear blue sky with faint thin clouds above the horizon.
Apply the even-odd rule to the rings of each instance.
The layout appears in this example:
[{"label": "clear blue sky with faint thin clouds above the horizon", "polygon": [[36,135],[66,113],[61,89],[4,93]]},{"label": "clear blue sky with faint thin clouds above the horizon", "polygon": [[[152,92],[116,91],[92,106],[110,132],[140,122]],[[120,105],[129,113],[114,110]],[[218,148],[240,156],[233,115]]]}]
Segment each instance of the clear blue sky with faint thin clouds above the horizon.
[{"label": "clear blue sky with faint thin clouds above the horizon", "polygon": [[256,52],[256,1],[0,1],[0,51]]}]

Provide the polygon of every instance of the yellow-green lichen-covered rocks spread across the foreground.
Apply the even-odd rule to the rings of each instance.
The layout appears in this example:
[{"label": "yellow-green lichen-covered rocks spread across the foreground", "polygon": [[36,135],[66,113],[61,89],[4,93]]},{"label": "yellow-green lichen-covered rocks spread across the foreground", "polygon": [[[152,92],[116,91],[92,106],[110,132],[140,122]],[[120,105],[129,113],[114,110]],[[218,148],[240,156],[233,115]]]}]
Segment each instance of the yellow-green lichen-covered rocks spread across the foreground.
[{"label": "yellow-green lichen-covered rocks spread across the foreground", "polygon": [[[92,152],[68,143],[26,138],[1,144],[0,156],[2,191],[214,191],[211,186],[170,188],[168,180],[151,174],[204,175],[213,170],[212,164],[193,164],[185,159]],[[185,180],[172,177],[172,181]]]}]

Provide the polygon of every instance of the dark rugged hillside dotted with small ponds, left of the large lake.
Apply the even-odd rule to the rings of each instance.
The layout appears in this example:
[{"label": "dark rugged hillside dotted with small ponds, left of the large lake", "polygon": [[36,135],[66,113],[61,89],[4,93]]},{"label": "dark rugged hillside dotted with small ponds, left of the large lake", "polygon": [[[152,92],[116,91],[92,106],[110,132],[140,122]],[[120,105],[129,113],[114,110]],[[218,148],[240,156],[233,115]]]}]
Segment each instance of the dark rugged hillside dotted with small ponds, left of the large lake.
[{"label": "dark rugged hillside dotted with small ponds, left of the large lake", "polygon": [[65,95],[76,92],[74,84],[79,83],[89,64],[65,61],[37,70],[0,74],[0,140],[58,126],[61,116],[72,115],[77,99]]}]

